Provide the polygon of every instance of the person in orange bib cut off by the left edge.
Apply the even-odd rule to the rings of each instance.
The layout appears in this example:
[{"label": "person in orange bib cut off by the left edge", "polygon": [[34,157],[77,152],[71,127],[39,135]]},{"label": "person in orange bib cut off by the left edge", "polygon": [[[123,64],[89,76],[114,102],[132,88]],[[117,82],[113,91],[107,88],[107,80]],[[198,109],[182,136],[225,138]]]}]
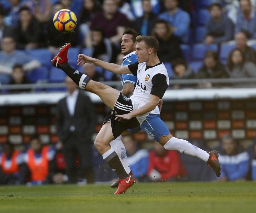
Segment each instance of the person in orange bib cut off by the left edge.
[{"label": "person in orange bib cut off by the left edge", "polygon": [[5,143],[0,154],[0,185],[19,184],[20,168],[23,163],[23,155],[14,149],[13,144]]}]

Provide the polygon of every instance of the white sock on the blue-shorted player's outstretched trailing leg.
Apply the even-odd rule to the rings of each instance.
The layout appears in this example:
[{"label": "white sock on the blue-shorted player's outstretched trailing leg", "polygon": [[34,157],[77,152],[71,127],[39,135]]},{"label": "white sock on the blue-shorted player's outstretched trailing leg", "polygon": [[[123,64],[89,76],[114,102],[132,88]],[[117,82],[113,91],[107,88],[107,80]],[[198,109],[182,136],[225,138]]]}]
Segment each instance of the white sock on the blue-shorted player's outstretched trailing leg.
[{"label": "white sock on the blue-shorted player's outstretched trailing leg", "polygon": [[210,157],[208,152],[192,145],[186,140],[175,137],[172,137],[163,147],[167,150],[177,150],[180,153],[184,153],[186,155],[196,156],[205,162],[207,162]]}]

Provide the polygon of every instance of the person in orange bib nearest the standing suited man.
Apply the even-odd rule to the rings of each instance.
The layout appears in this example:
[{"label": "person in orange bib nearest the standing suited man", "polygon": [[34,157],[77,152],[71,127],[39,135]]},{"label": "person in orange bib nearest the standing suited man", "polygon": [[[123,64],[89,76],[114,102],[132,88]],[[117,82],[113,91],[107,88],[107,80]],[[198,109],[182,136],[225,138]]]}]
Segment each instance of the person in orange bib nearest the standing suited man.
[{"label": "person in orange bib nearest the standing suited man", "polygon": [[56,162],[55,150],[42,145],[37,135],[30,139],[30,148],[24,154],[26,166],[20,171],[20,182],[27,185],[52,183]]}]

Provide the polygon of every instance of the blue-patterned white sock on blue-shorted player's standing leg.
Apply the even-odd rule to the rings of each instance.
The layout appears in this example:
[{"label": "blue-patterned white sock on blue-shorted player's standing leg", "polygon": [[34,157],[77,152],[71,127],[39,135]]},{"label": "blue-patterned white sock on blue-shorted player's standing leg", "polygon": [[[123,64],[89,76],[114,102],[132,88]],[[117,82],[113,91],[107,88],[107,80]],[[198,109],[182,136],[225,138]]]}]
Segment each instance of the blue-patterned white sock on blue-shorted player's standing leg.
[{"label": "blue-patterned white sock on blue-shorted player's standing leg", "polygon": [[130,170],[129,162],[126,155],[126,149],[121,139],[122,139],[122,136],[120,135],[115,140],[110,142],[110,146],[113,150],[115,150],[116,154],[118,155],[126,173],[129,174],[131,170]]}]

